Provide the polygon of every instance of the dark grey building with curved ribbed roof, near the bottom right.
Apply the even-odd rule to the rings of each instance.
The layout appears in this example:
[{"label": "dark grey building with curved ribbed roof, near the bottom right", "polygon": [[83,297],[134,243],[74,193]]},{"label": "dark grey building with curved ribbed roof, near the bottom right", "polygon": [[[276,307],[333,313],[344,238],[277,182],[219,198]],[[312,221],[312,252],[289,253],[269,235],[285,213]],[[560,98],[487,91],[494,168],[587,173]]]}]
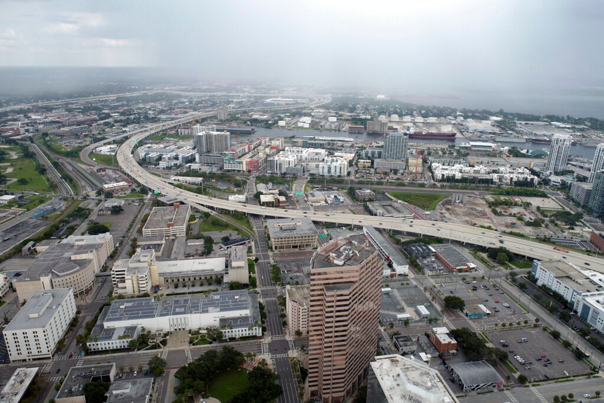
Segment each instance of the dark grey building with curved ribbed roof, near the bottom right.
[{"label": "dark grey building with curved ribbed roof, near the bottom right", "polygon": [[454,382],[461,386],[463,392],[503,387],[503,380],[497,371],[484,360],[451,364],[449,372],[451,372]]}]

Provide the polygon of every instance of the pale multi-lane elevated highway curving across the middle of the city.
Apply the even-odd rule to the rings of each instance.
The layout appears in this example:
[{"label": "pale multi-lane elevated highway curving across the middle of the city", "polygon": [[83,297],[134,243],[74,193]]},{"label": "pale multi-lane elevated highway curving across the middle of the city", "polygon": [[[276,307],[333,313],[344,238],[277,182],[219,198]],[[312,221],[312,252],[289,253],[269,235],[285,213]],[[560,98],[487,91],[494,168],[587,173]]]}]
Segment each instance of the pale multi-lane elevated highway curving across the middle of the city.
[{"label": "pale multi-lane elevated highway curving across the middle of the city", "polygon": [[117,160],[120,167],[136,179],[141,184],[150,189],[157,190],[163,195],[171,196],[182,202],[191,204],[194,207],[207,211],[208,207],[222,208],[231,211],[243,211],[248,214],[258,214],[260,216],[271,216],[280,218],[301,218],[308,217],[313,221],[333,222],[336,224],[352,225],[373,225],[377,228],[392,229],[417,233],[420,235],[430,235],[443,237],[445,239],[458,240],[464,243],[472,243],[487,248],[506,247],[513,253],[521,256],[532,257],[539,260],[561,260],[572,263],[579,268],[593,269],[604,272],[604,260],[599,257],[588,256],[586,254],[570,251],[568,253],[554,250],[551,245],[535,242],[498,231],[485,230],[483,228],[472,227],[471,225],[460,225],[448,222],[432,222],[417,219],[398,219],[383,218],[375,216],[360,216],[356,214],[323,213],[319,211],[300,211],[284,210],[281,208],[262,207],[258,205],[241,204],[230,202],[223,199],[216,199],[210,196],[199,195],[188,192],[173,186],[169,181],[158,178],[155,175],[146,172],[132,155],[136,144],[147,136],[157,131],[141,132],[138,135],[126,141],[117,152]]}]

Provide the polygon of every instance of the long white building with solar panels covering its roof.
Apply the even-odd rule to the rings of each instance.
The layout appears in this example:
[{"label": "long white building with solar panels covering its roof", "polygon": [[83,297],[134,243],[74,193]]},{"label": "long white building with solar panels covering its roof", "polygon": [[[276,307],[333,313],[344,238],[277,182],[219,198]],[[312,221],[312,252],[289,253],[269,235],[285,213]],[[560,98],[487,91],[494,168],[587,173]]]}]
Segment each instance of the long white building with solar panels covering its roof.
[{"label": "long white building with solar panels covering its roof", "polygon": [[138,326],[151,332],[219,328],[225,338],[262,336],[258,296],[245,290],[115,300],[104,329]]}]

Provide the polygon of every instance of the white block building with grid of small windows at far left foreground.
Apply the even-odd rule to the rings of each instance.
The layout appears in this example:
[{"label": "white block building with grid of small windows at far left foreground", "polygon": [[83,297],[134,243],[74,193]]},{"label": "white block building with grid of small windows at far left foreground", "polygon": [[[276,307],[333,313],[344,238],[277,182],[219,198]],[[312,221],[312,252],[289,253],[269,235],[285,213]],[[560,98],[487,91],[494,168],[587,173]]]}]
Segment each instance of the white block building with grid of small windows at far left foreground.
[{"label": "white block building with grid of small windows at far left foreground", "polygon": [[10,361],[52,358],[74,316],[76,300],[71,288],[34,292],[2,330]]}]

